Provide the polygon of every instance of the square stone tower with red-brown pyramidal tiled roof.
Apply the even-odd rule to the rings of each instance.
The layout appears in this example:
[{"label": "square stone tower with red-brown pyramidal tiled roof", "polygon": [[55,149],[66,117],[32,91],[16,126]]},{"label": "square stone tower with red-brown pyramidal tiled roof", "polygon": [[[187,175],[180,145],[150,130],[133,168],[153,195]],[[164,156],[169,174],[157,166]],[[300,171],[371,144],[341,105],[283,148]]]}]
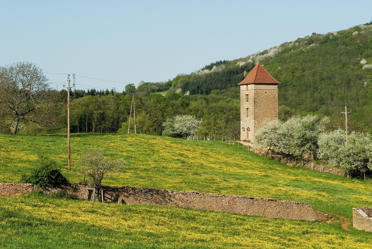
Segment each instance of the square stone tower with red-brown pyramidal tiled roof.
[{"label": "square stone tower with red-brown pyramidal tiled roof", "polygon": [[254,133],[278,119],[278,82],[257,64],[240,82],[240,140],[254,142]]}]

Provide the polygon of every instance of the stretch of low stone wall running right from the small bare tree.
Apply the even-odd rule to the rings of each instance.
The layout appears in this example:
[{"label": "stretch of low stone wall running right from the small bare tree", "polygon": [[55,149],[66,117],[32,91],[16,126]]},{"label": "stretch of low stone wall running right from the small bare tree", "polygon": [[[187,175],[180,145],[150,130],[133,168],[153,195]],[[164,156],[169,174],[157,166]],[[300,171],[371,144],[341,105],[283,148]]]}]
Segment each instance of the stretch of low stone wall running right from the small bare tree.
[{"label": "stretch of low stone wall running right from the small bare tree", "polygon": [[324,221],[331,218],[307,204],[268,198],[131,187],[113,192],[119,192],[118,202],[126,204],[167,205],[288,220]]}]

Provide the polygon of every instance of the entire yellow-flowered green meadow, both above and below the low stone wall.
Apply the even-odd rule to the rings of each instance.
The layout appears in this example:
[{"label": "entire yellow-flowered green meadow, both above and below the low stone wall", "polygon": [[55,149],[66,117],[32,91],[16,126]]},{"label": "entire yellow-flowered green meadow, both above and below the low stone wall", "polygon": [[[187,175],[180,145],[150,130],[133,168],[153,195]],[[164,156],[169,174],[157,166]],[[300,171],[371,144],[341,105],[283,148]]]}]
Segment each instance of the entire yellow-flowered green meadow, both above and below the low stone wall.
[{"label": "entire yellow-flowered green meadow, both above and below the low stone wall", "polygon": [[[38,150],[53,156],[70,182],[82,181],[80,175],[66,170],[66,143],[64,135],[0,135],[0,182],[19,182],[20,175],[37,163]],[[127,162],[125,172],[105,185],[298,201],[335,220],[310,223],[170,207],[2,197],[0,246],[18,245],[18,237],[26,244],[51,240],[63,247],[62,240],[76,242],[77,248],[109,248],[116,243],[132,248],[269,248],[273,244],[279,248],[368,248],[372,243],[371,233],[352,228],[352,207],[372,207],[371,182],[289,167],[222,142],[139,134],[72,135],[72,169],[89,148]],[[72,237],[69,232],[74,232]],[[65,236],[69,239],[62,239]],[[102,243],[100,236],[105,238]]]}]

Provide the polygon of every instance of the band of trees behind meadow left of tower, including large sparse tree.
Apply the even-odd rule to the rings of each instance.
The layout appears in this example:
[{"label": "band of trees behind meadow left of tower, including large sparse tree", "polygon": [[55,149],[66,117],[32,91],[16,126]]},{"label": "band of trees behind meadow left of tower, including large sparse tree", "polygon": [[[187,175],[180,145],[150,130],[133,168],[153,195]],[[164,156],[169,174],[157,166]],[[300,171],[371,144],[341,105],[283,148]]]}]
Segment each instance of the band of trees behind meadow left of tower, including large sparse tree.
[{"label": "band of trees behind meadow left of tower, including large sparse tree", "polygon": [[[41,68],[32,63],[1,67],[0,80],[1,133],[67,131],[67,91],[51,89]],[[165,95],[157,93],[165,89],[169,89]],[[236,87],[211,91],[209,95],[185,95],[172,88],[168,81],[142,82],[137,88],[128,84],[124,92],[90,89],[70,93],[72,133],[127,131],[132,95],[135,95],[138,133],[161,135],[167,119],[191,115],[203,120],[198,135],[239,135],[240,106]],[[133,132],[134,122],[131,124]]]}]

